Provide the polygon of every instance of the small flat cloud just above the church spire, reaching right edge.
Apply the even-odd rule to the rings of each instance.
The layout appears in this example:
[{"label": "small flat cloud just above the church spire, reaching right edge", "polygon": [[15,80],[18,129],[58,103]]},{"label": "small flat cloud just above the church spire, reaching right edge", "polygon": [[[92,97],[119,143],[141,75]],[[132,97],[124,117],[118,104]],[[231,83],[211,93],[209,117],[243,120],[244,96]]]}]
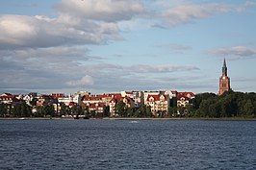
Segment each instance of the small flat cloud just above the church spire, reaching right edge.
[{"label": "small flat cloud just above the church spire, reaching right edge", "polygon": [[218,49],[209,50],[206,54],[214,56],[227,56],[233,57],[234,60],[240,59],[255,59],[256,48],[248,48],[245,46],[233,46],[233,47],[220,47]]}]

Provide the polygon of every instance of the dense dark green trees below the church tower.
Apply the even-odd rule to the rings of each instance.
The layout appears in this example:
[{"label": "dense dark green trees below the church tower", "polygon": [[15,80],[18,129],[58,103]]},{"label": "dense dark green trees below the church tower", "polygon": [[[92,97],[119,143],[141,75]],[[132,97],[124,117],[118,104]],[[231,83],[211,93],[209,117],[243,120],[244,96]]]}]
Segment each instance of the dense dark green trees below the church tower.
[{"label": "dense dark green trees below the church tower", "polygon": [[256,117],[256,93],[234,92],[218,96],[214,93],[197,94],[189,110],[192,117]]}]

